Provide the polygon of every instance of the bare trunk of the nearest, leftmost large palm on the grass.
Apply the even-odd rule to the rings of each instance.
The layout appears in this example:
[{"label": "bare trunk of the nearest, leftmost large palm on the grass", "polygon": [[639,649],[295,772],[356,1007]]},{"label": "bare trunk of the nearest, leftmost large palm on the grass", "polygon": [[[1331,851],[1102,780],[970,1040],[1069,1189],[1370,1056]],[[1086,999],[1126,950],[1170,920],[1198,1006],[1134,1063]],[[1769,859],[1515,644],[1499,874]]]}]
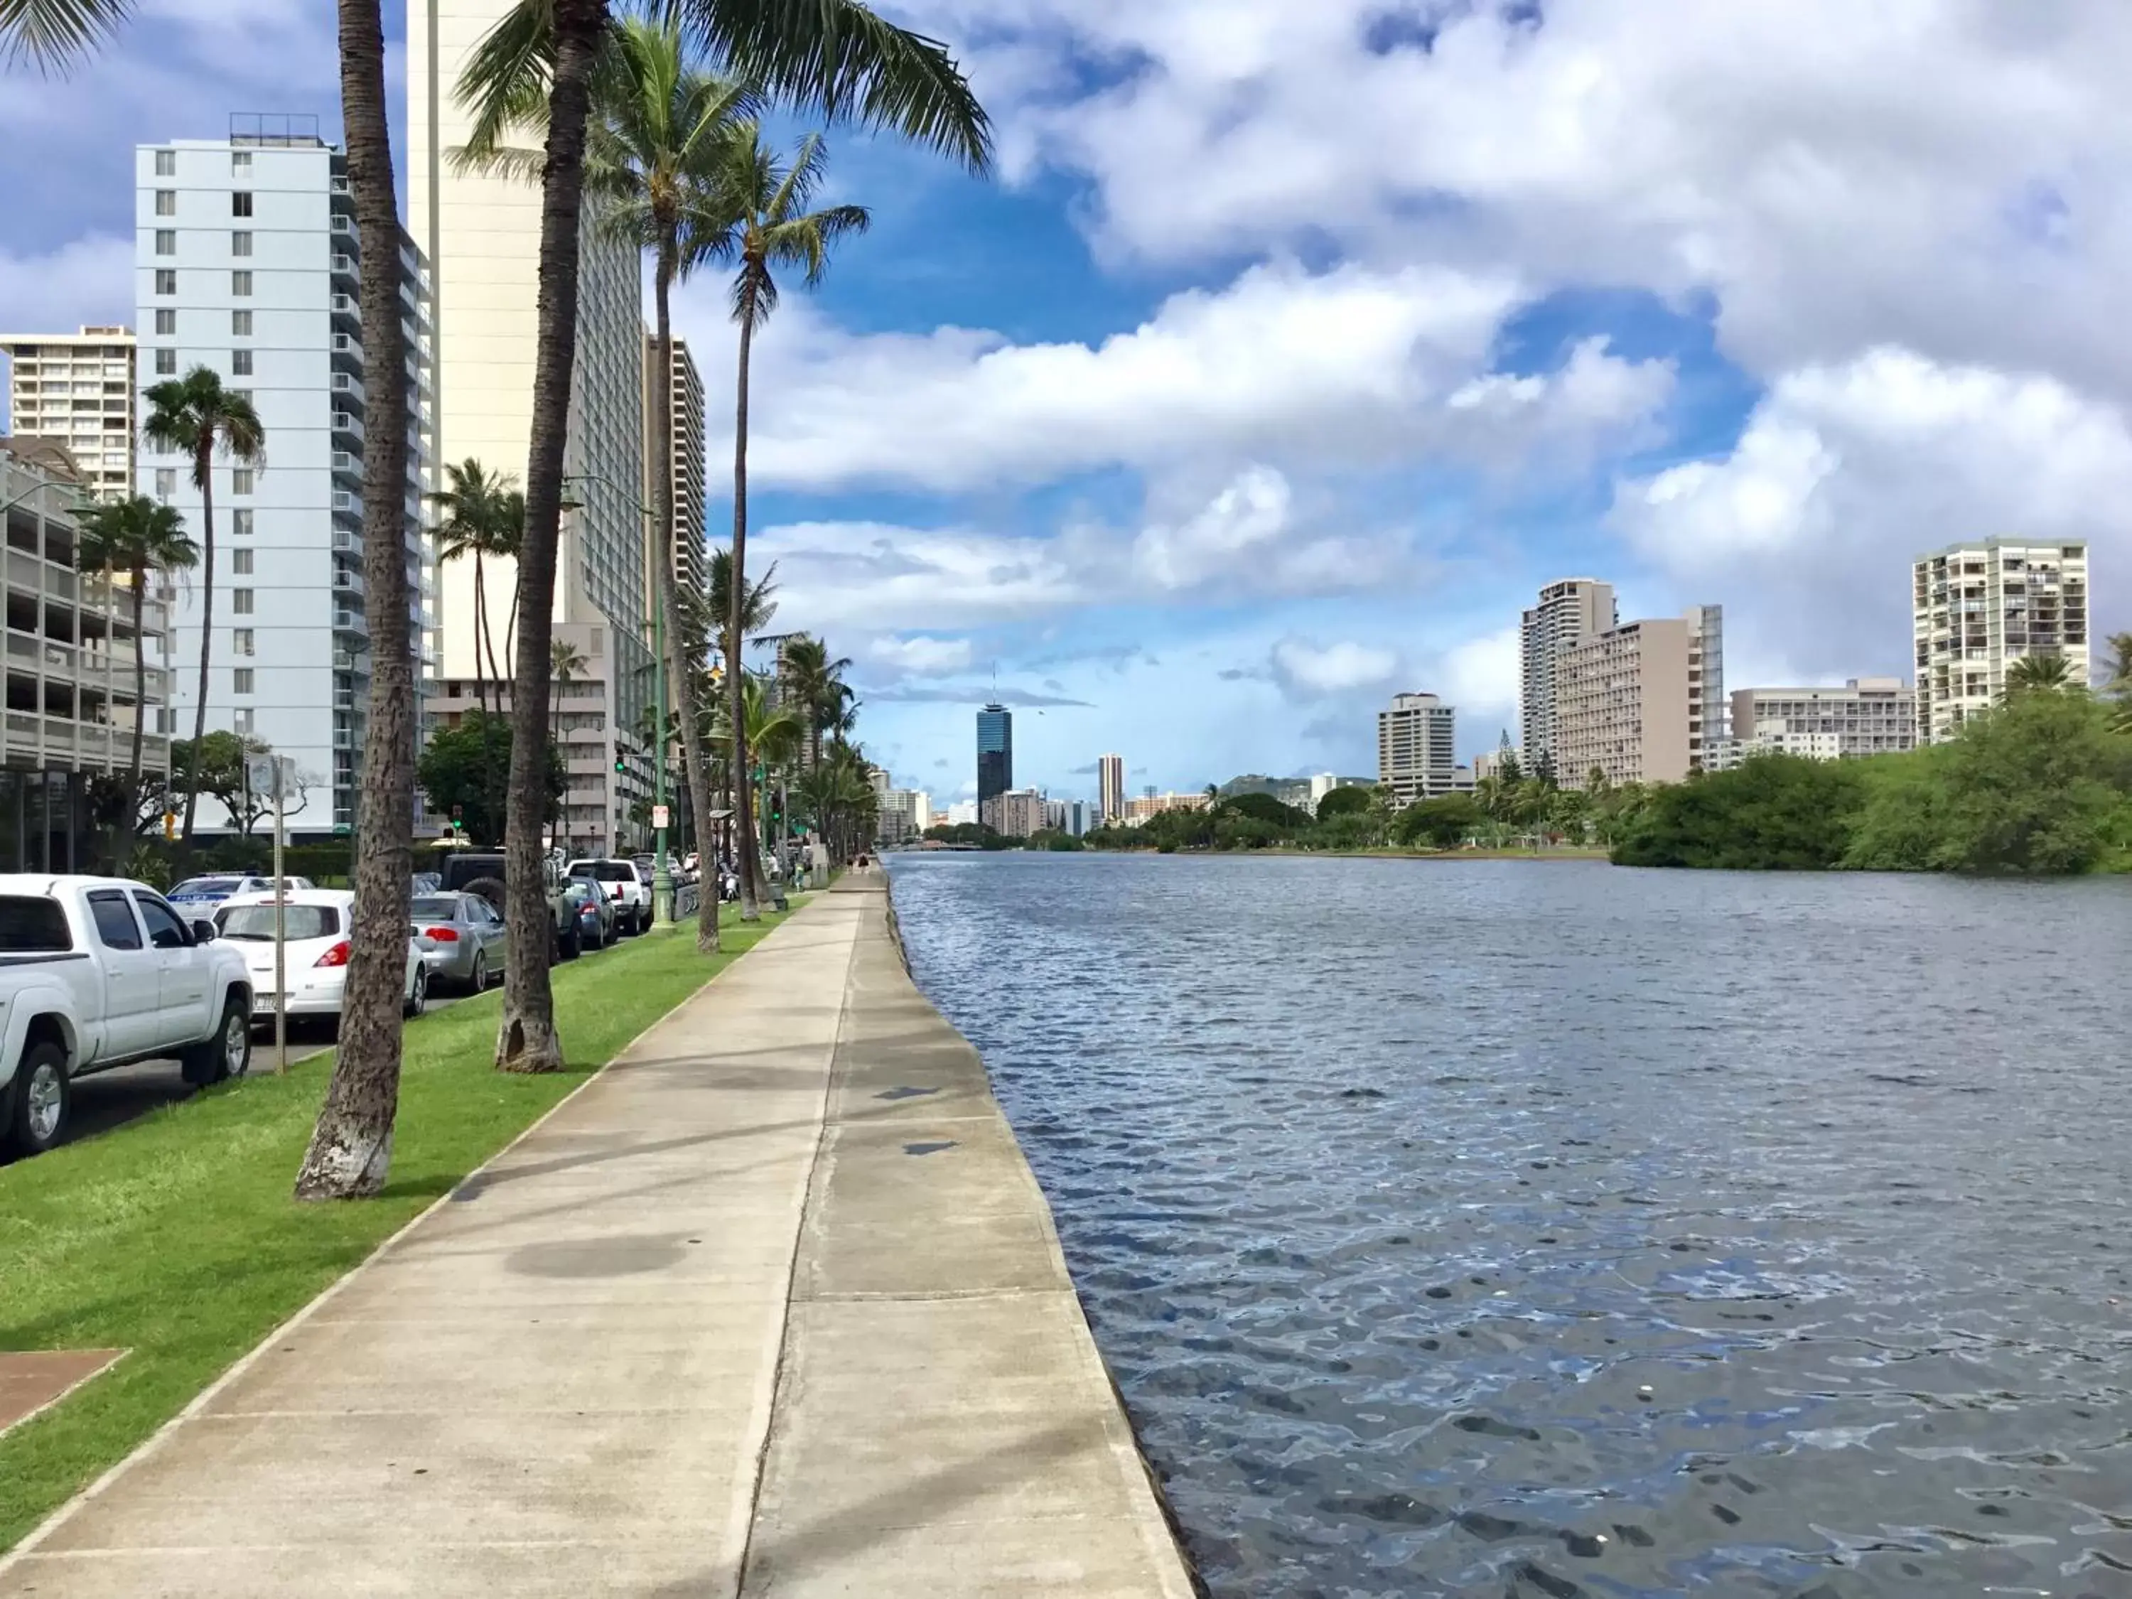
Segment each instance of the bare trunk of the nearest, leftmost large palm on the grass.
[{"label": "bare trunk of the nearest, leftmost large palm on the grass", "polygon": [[371,706],[356,810],[356,917],[350,930],[341,1047],[326,1104],[296,1173],[296,1198],[365,1198],[384,1188],[399,1115],[401,996],[407,981],[414,836],[414,657],[407,618],[407,365],[401,333],[401,230],[386,122],[379,0],[339,0],[348,185],[362,241],[362,599],[371,629]]}]

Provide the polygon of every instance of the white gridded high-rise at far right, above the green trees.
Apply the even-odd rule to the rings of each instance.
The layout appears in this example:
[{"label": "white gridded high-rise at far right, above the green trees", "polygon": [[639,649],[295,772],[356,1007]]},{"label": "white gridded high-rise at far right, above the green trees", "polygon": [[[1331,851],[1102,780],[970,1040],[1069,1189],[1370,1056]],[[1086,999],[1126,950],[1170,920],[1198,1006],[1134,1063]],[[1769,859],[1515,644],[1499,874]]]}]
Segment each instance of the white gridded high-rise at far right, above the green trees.
[{"label": "white gridded high-rise at far right, above the green trees", "polygon": [[1936,744],[2006,693],[2023,655],[2066,659],[2087,684],[2087,544],[1972,539],[1910,567],[1917,736]]}]

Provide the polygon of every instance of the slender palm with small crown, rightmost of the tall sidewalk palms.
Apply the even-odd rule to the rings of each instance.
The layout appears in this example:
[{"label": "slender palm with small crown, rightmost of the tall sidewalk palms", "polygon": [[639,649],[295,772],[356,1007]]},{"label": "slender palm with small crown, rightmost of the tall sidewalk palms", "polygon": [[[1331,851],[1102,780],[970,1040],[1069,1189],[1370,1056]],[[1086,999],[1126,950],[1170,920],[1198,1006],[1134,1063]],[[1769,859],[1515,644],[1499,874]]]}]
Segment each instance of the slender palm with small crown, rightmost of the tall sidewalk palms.
[{"label": "slender palm with small crown, rightmost of the tall sidewalk palms", "polygon": [[[789,266],[800,269],[802,281],[812,288],[829,264],[829,247],[846,235],[866,232],[868,215],[861,205],[829,205],[821,211],[808,211],[829,160],[821,134],[802,139],[787,166],[763,143],[761,128],[748,124],[727,145],[727,156],[725,185],[740,211],[731,245],[740,258],[740,271],[733,275],[740,375],[733,399],[733,612],[729,620],[729,631],[738,637],[740,595],[748,571],[748,360],[755,350],[755,330],[778,305],[778,273]],[[731,695],[731,718],[742,725],[733,765],[746,768],[746,718],[740,714],[742,680],[738,674],[727,674],[725,693]],[[753,825],[748,785],[738,785],[736,793],[740,795],[736,823],[746,834]],[[740,919],[755,921],[759,915],[759,883],[755,883],[750,861],[740,872]]]}]

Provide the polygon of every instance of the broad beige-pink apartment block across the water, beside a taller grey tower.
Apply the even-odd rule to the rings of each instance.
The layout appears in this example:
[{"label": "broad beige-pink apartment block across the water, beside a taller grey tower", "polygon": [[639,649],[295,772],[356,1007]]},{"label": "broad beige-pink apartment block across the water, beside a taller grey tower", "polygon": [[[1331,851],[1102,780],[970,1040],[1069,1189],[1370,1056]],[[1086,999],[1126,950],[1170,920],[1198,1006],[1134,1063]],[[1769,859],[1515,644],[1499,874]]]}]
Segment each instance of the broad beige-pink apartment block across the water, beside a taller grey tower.
[{"label": "broad beige-pink apartment block across the water, beside a taller grey tower", "polygon": [[1725,616],[1622,623],[1569,646],[1554,674],[1554,776],[1582,789],[1680,782],[1712,763],[1725,738]]}]

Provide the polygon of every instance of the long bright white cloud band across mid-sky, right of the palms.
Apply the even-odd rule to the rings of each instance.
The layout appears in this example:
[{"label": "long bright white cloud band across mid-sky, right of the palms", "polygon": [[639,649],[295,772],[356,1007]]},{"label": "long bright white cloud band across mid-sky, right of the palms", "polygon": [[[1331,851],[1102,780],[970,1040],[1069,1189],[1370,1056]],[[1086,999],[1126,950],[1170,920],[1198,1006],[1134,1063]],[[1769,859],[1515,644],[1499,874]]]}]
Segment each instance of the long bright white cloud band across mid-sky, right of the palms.
[{"label": "long bright white cloud band across mid-sky, right of the palms", "polygon": [[[787,488],[957,490],[1181,463],[1514,465],[1541,441],[1635,429],[1667,397],[1665,362],[1597,343],[1561,375],[1475,386],[1520,294],[1509,275],[1277,262],[1175,294],[1096,345],[851,335],[793,303],[755,348],[750,471]],[[676,324],[708,348],[718,294],[684,301]]]}]

